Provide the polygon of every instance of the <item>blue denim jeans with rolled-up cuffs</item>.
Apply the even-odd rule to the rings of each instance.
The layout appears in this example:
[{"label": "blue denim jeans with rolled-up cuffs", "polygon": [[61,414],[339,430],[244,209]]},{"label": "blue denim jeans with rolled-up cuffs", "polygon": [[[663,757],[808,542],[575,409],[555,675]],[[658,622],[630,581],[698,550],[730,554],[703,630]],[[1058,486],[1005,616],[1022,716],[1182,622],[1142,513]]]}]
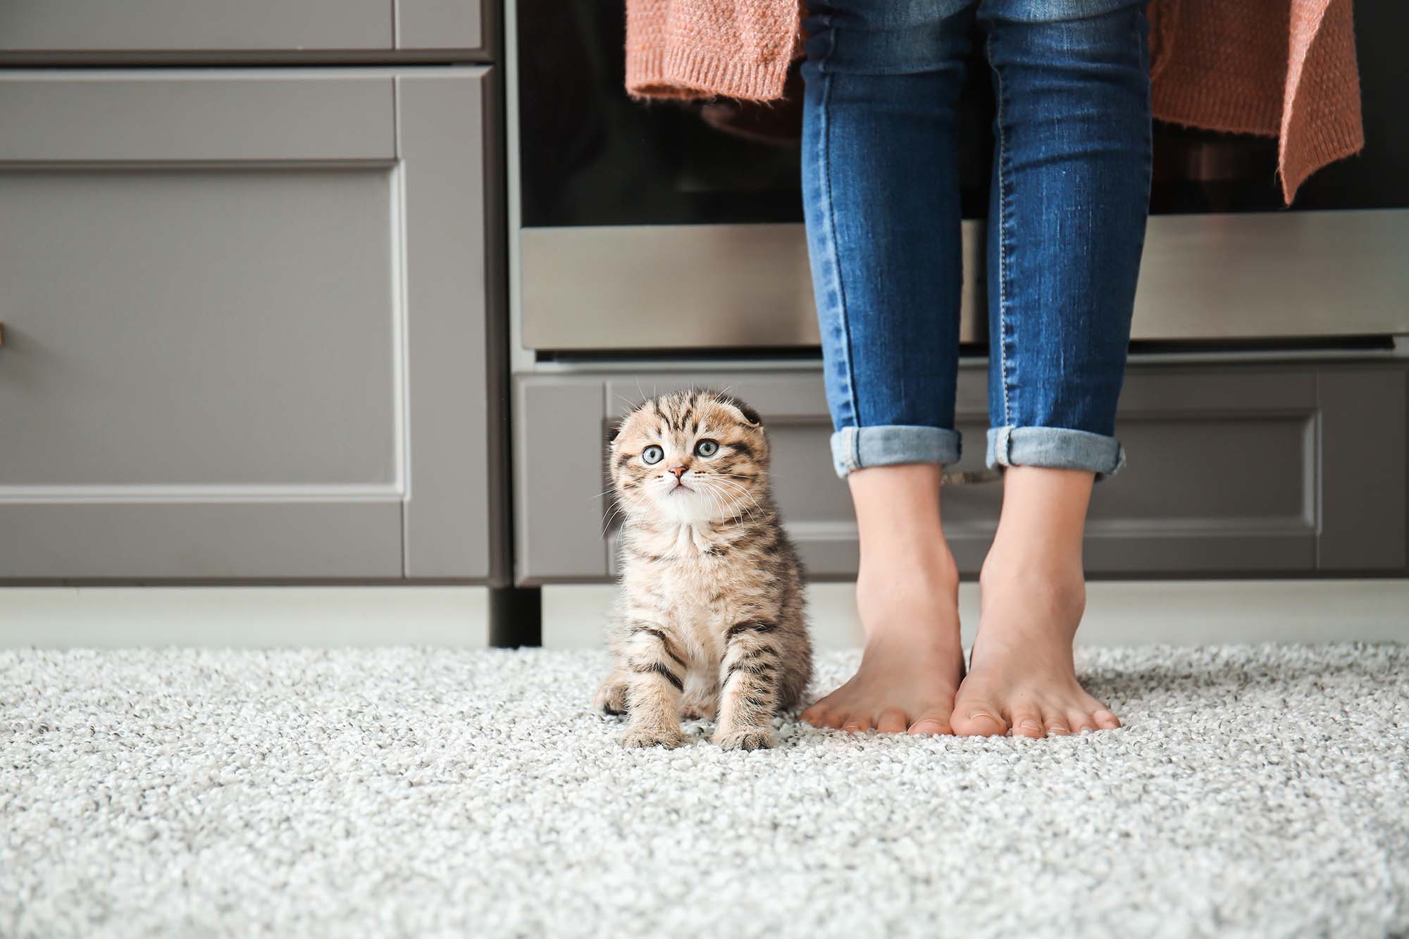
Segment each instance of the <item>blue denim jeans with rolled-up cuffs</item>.
[{"label": "blue denim jeans with rolled-up cuffs", "polygon": [[955,99],[972,18],[996,97],[988,465],[1124,465],[1150,204],[1143,0],[809,4],[803,197],[838,475],[960,458]]}]

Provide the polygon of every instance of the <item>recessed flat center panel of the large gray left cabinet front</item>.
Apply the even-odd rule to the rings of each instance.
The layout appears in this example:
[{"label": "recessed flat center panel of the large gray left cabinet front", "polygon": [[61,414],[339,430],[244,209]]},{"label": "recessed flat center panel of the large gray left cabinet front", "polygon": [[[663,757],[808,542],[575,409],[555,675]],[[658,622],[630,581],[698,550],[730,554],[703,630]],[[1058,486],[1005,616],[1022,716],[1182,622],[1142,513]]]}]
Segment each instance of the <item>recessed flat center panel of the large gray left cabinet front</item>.
[{"label": "recessed flat center panel of the large gray left cabinet front", "polygon": [[0,173],[4,484],[390,491],[390,186]]}]

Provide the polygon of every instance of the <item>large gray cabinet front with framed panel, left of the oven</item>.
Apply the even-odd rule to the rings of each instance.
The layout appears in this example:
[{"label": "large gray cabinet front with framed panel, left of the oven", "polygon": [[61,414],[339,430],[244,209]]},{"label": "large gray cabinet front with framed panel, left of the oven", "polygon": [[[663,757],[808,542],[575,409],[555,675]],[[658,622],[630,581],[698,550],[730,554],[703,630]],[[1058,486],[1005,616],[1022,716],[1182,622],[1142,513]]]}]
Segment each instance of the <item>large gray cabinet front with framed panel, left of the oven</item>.
[{"label": "large gray cabinet front with framed panel, left of the oven", "polygon": [[492,83],[0,72],[0,581],[486,577]]}]

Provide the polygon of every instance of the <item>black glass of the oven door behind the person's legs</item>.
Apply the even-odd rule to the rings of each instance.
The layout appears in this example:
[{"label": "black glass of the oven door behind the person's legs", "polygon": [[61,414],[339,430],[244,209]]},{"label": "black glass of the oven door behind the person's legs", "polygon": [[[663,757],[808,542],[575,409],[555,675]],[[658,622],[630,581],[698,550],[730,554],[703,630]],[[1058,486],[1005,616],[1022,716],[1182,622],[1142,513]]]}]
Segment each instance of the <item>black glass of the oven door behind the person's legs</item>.
[{"label": "black glass of the oven door behind the person's legs", "polygon": [[[621,0],[517,0],[523,224],[802,221],[796,70],[781,104],[633,102],[621,86],[623,8]],[[1399,48],[1409,4],[1357,4],[1355,35],[1365,149],[1312,176],[1296,210],[1409,206]],[[992,111],[976,51],[960,114],[965,217],[988,207]],[[1275,166],[1275,140],[1155,123],[1151,211],[1279,210]]]}]

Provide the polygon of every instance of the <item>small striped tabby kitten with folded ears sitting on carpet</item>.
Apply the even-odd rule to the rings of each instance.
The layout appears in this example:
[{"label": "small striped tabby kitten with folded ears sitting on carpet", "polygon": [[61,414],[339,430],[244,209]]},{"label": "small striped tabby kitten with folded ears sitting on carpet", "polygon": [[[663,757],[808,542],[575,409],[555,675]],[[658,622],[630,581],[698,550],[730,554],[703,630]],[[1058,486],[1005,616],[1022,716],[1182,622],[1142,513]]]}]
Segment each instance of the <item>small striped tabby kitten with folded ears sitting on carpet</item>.
[{"label": "small striped tabby kitten with folded ears sitting on carpet", "polygon": [[812,642],[758,413],[720,392],[661,395],[626,416],[609,460],[623,572],[596,705],[628,715],[628,747],[679,746],[682,713],[717,715],[726,750],[771,747]]}]

